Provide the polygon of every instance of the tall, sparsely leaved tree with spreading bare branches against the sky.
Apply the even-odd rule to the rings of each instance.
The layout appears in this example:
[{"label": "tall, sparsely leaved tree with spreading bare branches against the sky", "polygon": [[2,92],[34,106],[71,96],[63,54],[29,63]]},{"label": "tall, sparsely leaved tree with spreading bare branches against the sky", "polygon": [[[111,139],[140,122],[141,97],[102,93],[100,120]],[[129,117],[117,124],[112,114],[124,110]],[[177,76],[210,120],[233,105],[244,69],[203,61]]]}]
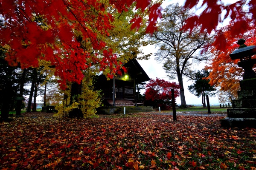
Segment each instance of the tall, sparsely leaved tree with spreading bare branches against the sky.
[{"label": "tall, sparsely leaved tree with spreading bare branches against the sky", "polygon": [[182,6],[169,5],[163,11],[162,20],[158,25],[151,40],[156,43],[158,51],[157,60],[163,61],[163,68],[170,79],[177,77],[180,85],[181,107],[187,107],[185,92],[183,87],[183,75],[190,77],[192,62],[199,62],[207,59],[205,55],[195,54],[195,52],[209,42],[207,33],[200,33],[198,28],[186,31],[183,26],[191,14],[188,8]]}]

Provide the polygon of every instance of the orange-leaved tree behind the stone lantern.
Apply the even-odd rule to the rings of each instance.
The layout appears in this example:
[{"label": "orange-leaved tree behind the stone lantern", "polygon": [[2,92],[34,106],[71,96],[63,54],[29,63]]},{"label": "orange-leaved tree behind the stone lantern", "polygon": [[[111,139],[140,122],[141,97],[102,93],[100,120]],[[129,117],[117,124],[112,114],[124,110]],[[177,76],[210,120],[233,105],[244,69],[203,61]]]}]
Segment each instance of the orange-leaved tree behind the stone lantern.
[{"label": "orange-leaved tree behind the stone lantern", "polygon": [[[236,43],[240,38],[246,39],[246,45],[255,45],[255,30],[249,30],[243,34],[232,34],[233,22],[221,28],[223,36],[229,46],[225,49],[218,48],[218,45],[212,44],[210,52],[212,59],[209,60],[206,69],[211,70],[208,79],[210,85],[220,87],[219,100],[227,102],[237,99],[237,91],[240,89],[239,81],[243,76],[243,69],[238,67],[239,59],[232,60],[229,56],[239,45]],[[252,25],[253,26],[253,25]]]}]

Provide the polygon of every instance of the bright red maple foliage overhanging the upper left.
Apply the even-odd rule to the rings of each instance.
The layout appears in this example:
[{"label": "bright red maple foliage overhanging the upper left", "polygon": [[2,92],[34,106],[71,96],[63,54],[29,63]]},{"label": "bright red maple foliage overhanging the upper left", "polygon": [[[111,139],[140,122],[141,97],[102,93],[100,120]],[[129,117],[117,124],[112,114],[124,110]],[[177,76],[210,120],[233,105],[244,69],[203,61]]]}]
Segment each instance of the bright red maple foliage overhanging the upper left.
[{"label": "bright red maple foliage overhanging the upper left", "polygon": [[[146,31],[152,33],[161,16],[160,4],[151,5],[151,0],[108,3],[122,12],[136,2],[136,9],[148,8]],[[63,87],[66,81],[80,83],[82,70],[93,63],[100,63],[101,70],[114,64],[111,73],[115,73],[121,64],[116,62],[111,49],[104,49],[105,42],[97,39],[97,34],[108,36],[113,28],[114,17],[105,8],[99,0],[0,0],[0,45],[7,51],[6,60],[12,66],[20,64],[21,68],[38,67],[38,59],[49,61]],[[136,16],[131,20],[131,28],[139,28],[141,22],[142,17]],[[79,48],[81,40],[76,38],[76,32],[90,43],[90,50]],[[101,59],[99,50],[103,51]]]}]

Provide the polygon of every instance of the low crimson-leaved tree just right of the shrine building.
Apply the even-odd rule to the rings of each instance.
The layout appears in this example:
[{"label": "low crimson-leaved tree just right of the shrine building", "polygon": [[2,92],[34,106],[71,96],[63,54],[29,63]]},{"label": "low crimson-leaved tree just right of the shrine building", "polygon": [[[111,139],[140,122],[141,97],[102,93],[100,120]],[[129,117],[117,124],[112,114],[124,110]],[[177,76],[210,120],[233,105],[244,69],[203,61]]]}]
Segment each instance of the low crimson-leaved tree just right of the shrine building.
[{"label": "low crimson-leaved tree just right of the shrine building", "polygon": [[180,96],[179,85],[176,82],[169,82],[164,79],[151,79],[146,84],[145,99],[146,103],[154,107],[161,107],[163,110],[169,110],[172,103],[172,92],[174,89],[175,99]]}]

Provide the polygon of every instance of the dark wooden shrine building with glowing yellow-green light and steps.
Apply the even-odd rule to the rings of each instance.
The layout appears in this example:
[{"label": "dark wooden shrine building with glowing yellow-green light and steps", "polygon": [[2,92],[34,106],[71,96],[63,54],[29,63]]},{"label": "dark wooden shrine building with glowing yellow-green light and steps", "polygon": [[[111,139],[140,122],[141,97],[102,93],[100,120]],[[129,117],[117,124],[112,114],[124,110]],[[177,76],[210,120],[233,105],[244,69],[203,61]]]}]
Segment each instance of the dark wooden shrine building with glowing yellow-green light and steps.
[{"label": "dark wooden shrine building with glowing yellow-green light and steps", "polygon": [[122,73],[122,76],[107,80],[105,75],[99,75],[96,86],[102,90],[104,106],[137,106],[136,88],[150,80],[136,59],[129,60],[123,66],[127,73]]}]

